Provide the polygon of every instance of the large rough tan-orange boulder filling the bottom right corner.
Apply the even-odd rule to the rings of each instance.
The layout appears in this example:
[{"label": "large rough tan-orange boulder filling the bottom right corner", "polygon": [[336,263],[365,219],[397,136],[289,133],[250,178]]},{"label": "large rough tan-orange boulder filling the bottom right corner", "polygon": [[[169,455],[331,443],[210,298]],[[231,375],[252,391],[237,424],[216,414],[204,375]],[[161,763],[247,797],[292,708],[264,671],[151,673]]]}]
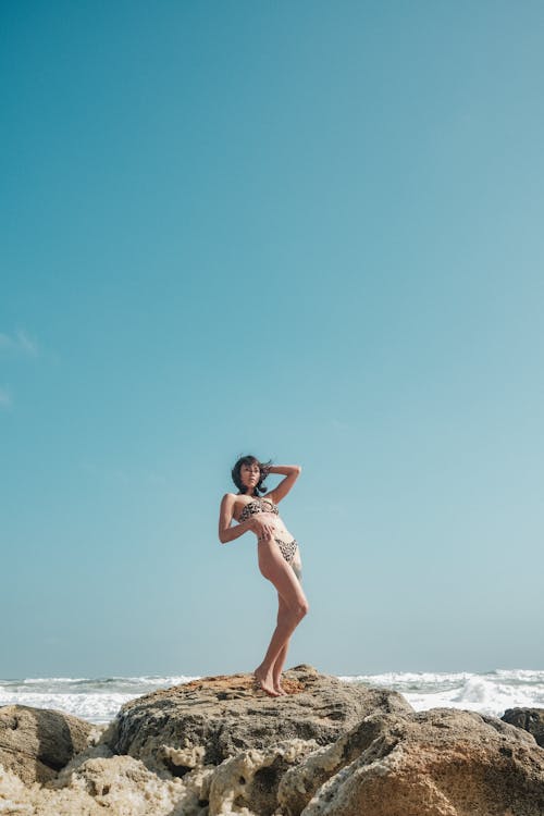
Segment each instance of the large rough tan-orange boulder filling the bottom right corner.
[{"label": "large rough tan-orange boulder filling the bottom right corner", "polygon": [[[358,732],[358,735],[356,737]],[[351,733],[360,756],[322,784],[295,816],[542,816],[544,751],[494,717],[435,708],[371,715]],[[306,763],[314,762],[310,755]],[[300,766],[299,771],[305,767]],[[319,768],[319,765],[318,765]],[[319,780],[318,780],[319,781]]]}]

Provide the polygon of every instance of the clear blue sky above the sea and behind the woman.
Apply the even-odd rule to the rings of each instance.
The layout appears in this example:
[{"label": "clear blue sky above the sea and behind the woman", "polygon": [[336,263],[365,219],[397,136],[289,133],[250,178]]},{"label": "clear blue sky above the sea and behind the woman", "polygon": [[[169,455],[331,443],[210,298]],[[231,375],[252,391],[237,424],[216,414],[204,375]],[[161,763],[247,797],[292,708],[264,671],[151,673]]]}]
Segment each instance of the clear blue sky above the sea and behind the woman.
[{"label": "clear blue sky above the sea and behind the woman", "polygon": [[542,668],[542,2],[0,23],[0,677]]}]

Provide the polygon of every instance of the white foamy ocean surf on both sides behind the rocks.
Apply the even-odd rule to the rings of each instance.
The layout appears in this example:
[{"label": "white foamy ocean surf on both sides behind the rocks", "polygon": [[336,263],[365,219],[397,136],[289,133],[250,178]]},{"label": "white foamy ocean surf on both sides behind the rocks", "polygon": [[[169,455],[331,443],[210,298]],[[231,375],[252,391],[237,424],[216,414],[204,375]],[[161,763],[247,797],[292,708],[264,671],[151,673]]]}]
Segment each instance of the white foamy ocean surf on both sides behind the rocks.
[{"label": "white foamy ocean surf on both sides behind the rocks", "polygon": [[[544,670],[496,669],[481,673],[391,671],[338,677],[349,683],[399,691],[418,712],[438,707],[466,708],[500,717],[506,708],[544,707]],[[0,706],[17,703],[36,708],[57,708],[100,725],[112,720],[128,700],[197,678],[180,675],[0,680]]]}]

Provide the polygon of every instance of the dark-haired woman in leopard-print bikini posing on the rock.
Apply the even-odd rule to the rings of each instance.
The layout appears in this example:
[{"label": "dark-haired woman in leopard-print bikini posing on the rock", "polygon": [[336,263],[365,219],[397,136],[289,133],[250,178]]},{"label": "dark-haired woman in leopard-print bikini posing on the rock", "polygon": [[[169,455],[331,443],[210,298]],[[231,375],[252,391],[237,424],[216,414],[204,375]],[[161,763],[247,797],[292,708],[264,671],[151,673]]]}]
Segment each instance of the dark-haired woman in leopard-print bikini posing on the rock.
[{"label": "dark-haired woman in leopard-print bikini posing on the rock", "polygon": [[[287,692],[281,676],[290,635],[308,611],[308,602],[300,585],[300,555],[295,539],[279,516],[277,505],[290,491],[301,468],[298,465],[263,465],[255,456],[243,456],[232,470],[238,493],[226,493],[221,502],[219,540],[234,541],[251,530],[257,535],[259,569],[277,590],[277,625],[267,654],[255,669],[260,688],[277,697]],[[285,477],[277,487],[264,496],[263,481],[269,473]],[[238,523],[231,527],[232,520]]]}]

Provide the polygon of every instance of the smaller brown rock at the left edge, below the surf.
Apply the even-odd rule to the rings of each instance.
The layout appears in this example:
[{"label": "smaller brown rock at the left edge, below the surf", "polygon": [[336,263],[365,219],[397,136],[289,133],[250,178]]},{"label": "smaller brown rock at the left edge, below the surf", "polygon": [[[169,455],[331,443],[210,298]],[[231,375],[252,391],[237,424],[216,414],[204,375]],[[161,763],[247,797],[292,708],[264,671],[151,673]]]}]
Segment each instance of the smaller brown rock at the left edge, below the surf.
[{"label": "smaller brown rock at the left edge, below the surf", "polygon": [[0,763],[25,783],[47,782],[87,747],[96,727],[63,712],[5,705],[0,708]]}]

